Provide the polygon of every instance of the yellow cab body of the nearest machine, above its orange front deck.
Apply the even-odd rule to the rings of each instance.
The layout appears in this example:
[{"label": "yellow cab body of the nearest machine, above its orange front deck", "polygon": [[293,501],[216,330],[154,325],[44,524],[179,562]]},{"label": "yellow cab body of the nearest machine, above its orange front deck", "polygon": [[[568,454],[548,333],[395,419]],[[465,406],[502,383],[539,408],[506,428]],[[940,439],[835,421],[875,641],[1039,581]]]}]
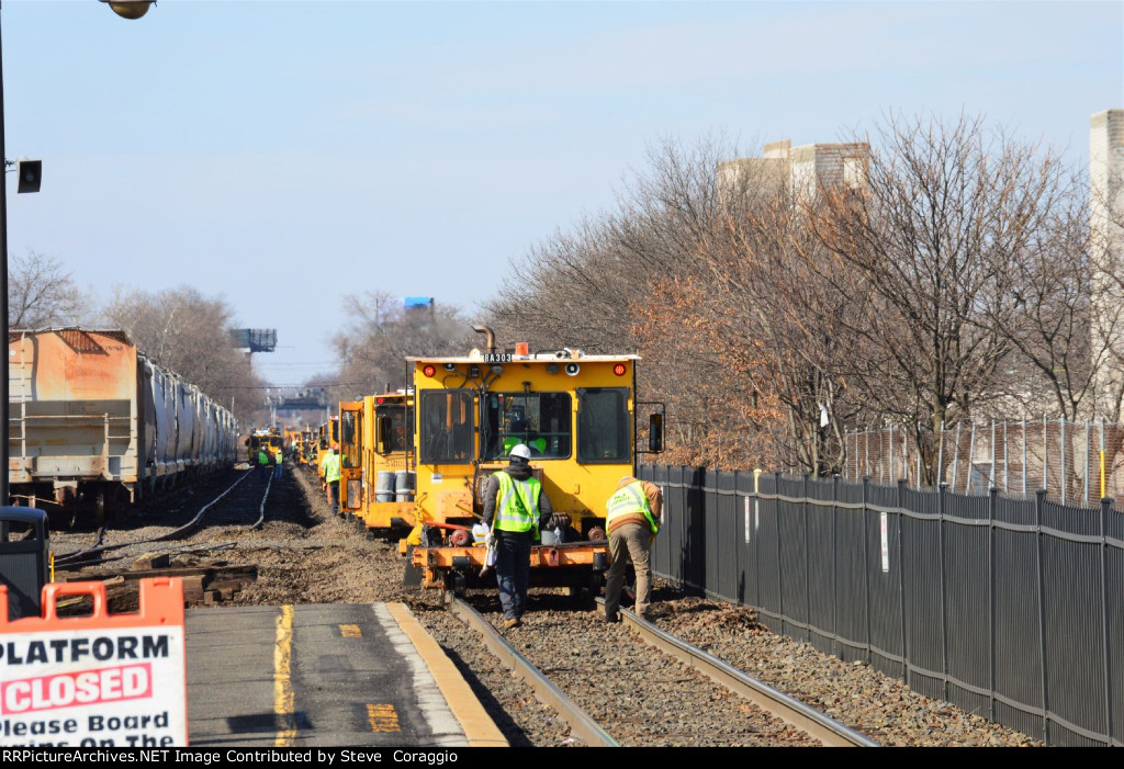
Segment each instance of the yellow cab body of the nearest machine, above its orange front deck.
[{"label": "yellow cab body of the nearest machine, above its orange front deck", "polygon": [[571,351],[408,358],[418,522],[471,527],[488,476],[525,443],[554,511],[583,535],[604,527],[606,501],[635,469],[637,359]]}]

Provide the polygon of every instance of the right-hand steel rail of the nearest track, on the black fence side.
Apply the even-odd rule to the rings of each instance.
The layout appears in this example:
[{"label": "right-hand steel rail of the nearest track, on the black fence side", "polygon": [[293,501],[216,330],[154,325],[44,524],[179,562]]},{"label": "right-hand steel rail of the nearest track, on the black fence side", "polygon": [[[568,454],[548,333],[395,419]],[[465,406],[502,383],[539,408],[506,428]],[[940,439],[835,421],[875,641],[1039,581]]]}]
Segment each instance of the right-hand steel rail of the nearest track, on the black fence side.
[{"label": "right-hand steel rail of the nearest track, on the black fence side", "polygon": [[[597,603],[604,608],[605,598],[597,598]],[[717,657],[708,654],[698,647],[642,620],[633,612],[622,608],[620,615],[646,643],[695,668],[719,686],[749,699],[762,711],[771,713],[785,723],[791,724],[801,732],[819,740],[825,747],[879,747],[877,742],[864,734],[860,734],[814,707],[745,675]]]}]

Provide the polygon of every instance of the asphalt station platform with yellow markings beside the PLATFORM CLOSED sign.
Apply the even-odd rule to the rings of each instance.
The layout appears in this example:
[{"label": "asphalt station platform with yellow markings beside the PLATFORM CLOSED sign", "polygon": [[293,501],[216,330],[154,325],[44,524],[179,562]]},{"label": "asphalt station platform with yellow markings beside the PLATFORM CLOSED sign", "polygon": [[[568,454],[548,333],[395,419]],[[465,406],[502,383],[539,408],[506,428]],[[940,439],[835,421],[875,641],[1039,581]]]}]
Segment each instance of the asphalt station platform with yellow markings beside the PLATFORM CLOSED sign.
[{"label": "asphalt station platform with yellow markings beside the PLATFORM CLOSED sign", "polygon": [[192,747],[506,747],[404,604],[187,613]]}]

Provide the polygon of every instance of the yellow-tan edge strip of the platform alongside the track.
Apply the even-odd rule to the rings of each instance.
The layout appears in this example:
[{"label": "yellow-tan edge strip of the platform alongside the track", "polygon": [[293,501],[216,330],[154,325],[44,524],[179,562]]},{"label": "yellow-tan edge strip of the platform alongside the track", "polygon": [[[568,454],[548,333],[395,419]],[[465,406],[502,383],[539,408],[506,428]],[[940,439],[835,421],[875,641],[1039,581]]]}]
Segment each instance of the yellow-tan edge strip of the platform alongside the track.
[{"label": "yellow-tan edge strip of the platform alongside the track", "polygon": [[472,748],[507,748],[504,733],[484,711],[480,699],[472,694],[468,681],[448,659],[441,644],[434,640],[417,617],[401,603],[388,603],[387,611],[406,633],[414,648],[422,654],[437,688],[448,703],[453,717],[464,729],[464,736]]}]

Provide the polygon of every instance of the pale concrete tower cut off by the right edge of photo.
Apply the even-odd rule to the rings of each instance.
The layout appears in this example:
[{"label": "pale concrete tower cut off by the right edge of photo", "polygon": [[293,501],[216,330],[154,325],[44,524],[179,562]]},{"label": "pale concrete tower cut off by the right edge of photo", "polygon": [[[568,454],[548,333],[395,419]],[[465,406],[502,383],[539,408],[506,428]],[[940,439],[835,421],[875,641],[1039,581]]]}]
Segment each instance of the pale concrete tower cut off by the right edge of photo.
[{"label": "pale concrete tower cut off by the right edge of photo", "polygon": [[[1097,416],[1124,421],[1124,109],[1089,120],[1089,230],[1093,350],[1111,355],[1097,366]],[[1097,265],[1103,265],[1098,268]]]}]

